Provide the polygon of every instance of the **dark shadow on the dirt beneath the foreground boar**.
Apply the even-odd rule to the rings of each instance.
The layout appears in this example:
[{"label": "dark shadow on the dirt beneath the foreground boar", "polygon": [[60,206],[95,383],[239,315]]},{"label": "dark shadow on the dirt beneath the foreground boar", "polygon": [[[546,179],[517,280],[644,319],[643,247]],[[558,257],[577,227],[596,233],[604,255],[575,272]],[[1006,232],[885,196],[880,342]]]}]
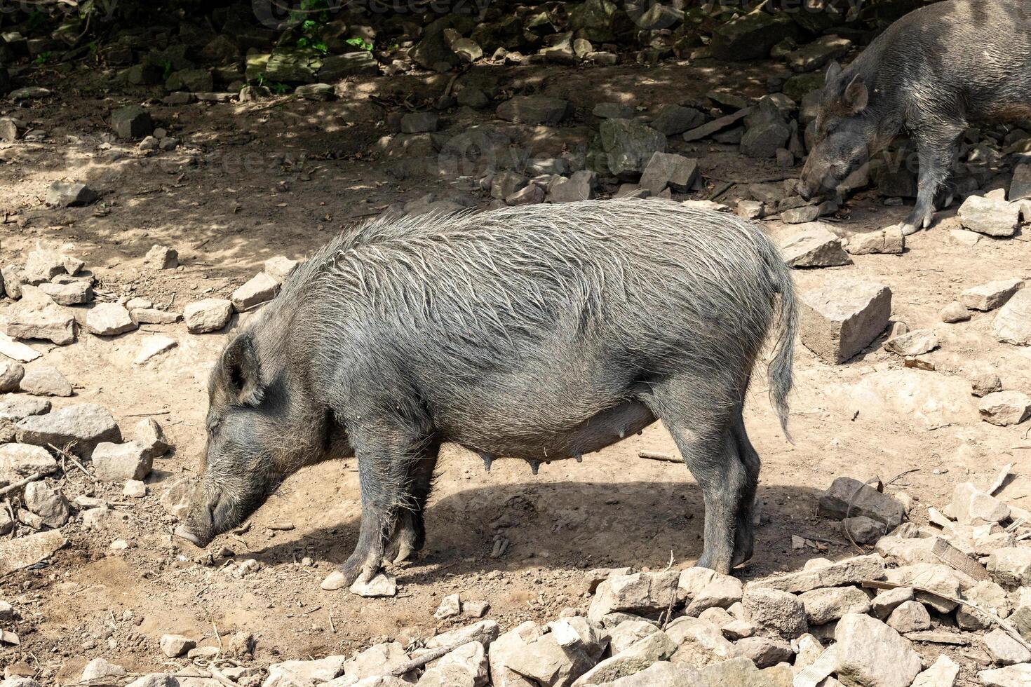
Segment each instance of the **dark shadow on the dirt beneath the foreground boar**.
[{"label": "dark shadow on the dirt beneath the foreground boar", "polygon": [[[387,565],[399,582],[432,582],[443,575],[514,571],[542,566],[554,569],[651,566],[693,562],[702,551],[702,492],[685,482],[683,466],[670,463],[670,481],[544,482],[473,487],[431,500],[427,507],[427,544],[411,563]],[[830,482],[830,479],[827,480]],[[303,484],[295,487],[302,496]],[[738,576],[754,577],[800,566],[807,558],[841,556],[850,545],[839,523],[818,518],[821,489],[802,486],[760,485],[760,512],[769,522],[756,529],[756,555],[735,569]],[[618,503],[612,503],[618,502]],[[272,499],[265,509],[288,517],[290,507]],[[293,563],[310,556],[324,566],[347,558],[358,539],[360,508],[337,525],[310,531],[303,528],[247,555],[270,565]],[[272,520],[259,516],[260,520]],[[766,518],[764,517],[764,521]],[[499,522],[506,526],[496,527]],[[256,527],[260,529],[261,527]],[[508,539],[507,553],[491,558],[495,535]],[[791,536],[820,537],[841,542],[818,552],[793,551]],[[530,557],[532,555],[532,557]]]}]

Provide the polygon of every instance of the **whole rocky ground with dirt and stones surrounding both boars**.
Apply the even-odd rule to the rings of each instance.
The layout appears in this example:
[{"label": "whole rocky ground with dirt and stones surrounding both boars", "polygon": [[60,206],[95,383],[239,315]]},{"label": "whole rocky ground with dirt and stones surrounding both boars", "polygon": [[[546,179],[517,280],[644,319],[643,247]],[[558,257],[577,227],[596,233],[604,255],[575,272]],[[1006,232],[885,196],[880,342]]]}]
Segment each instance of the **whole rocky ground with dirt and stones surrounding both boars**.
[{"label": "whole rocky ground with dirt and stones surrounding both boars", "polygon": [[[968,130],[912,236],[904,137],[798,195],[823,70],[919,4],[3,14],[0,684],[1031,683],[1031,127]],[[333,233],[624,195],[762,221],[796,268],[796,443],[757,382],[734,577],[692,566],[659,425],[537,476],[446,447],[427,549],[355,593],[319,588],[353,461],[171,537],[226,335]]]}]

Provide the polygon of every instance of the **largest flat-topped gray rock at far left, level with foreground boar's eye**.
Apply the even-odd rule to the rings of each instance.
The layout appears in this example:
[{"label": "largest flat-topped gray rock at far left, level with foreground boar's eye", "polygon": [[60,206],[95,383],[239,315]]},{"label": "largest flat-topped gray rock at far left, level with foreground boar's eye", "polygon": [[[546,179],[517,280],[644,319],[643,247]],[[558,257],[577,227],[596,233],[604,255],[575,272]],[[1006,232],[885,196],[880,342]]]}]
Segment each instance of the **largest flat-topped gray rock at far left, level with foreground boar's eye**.
[{"label": "largest flat-topped gray rock at far left, level with foreground boar's eye", "polygon": [[90,457],[101,442],[122,440],[110,412],[95,403],[68,406],[46,415],[32,415],[20,420],[14,428],[18,441],[23,444],[53,444],[59,448],[74,444],[71,450],[84,457]]}]

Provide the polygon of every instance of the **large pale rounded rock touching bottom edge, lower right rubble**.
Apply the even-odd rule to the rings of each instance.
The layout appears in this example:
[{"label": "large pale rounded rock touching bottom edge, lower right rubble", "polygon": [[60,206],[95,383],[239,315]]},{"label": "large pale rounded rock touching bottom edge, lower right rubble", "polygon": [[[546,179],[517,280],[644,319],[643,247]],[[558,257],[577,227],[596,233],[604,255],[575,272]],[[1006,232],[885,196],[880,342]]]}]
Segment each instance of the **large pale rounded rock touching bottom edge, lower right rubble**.
[{"label": "large pale rounded rock touching bottom edge, lower right rubble", "polygon": [[835,673],[845,684],[909,687],[921,672],[920,654],[908,640],[867,615],[850,613],[838,621]]}]

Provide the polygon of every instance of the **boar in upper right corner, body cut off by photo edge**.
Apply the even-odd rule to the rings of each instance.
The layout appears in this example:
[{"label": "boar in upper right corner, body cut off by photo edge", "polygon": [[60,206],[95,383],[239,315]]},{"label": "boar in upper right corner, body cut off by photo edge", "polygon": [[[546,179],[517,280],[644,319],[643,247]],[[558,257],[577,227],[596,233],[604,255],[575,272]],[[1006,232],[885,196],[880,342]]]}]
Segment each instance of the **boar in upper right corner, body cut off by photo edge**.
[{"label": "boar in upper right corner, body cut off by photo edge", "polygon": [[912,234],[930,227],[968,123],[1028,116],[1031,3],[937,2],[892,24],[844,70],[831,64],[800,192],[833,190],[904,128],[920,164],[917,204],[902,225]]}]

